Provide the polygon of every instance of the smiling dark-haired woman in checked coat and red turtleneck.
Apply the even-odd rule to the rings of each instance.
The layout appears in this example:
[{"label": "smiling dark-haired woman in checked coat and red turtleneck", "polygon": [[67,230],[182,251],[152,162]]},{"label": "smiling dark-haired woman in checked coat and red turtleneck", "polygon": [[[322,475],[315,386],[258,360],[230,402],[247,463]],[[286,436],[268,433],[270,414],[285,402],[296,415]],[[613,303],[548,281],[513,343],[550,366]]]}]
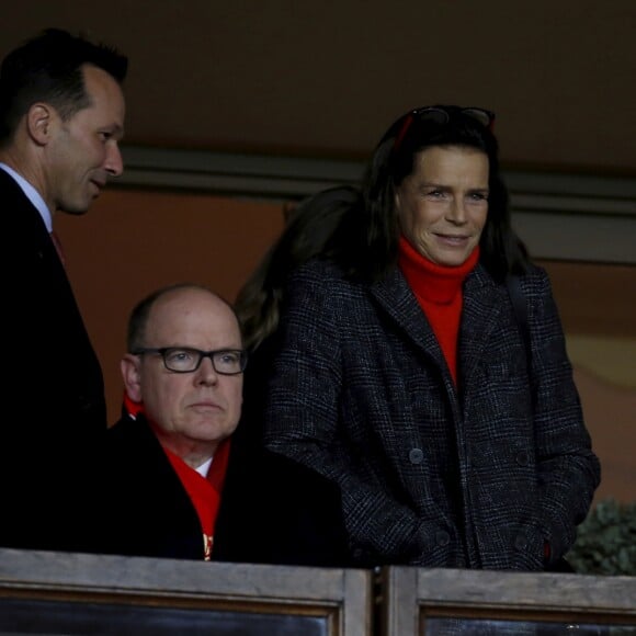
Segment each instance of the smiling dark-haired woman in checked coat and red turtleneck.
[{"label": "smiling dark-haired woman in checked coat and red turtleneck", "polygon": [[264,440],[339,485],[355,566],[560,569],[600,481],[548,277],[511,229],[493,118],[400,117],[281,289]]}]

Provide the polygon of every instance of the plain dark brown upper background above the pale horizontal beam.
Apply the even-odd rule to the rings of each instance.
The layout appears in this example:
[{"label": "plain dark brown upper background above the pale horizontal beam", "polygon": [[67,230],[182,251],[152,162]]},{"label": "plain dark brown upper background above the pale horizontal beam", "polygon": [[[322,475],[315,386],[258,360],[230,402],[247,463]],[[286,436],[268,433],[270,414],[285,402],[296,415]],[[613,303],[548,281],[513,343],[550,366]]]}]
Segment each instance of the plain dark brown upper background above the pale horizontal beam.
[{"label": "plain dark brown upper background above the pale horizontal beam", "polygon": [[12,2],[0,55],[44,26],[130,56],[126,141],[366,157],[429,103],[498,114],[507,166],[634,174],[634,0]]}]

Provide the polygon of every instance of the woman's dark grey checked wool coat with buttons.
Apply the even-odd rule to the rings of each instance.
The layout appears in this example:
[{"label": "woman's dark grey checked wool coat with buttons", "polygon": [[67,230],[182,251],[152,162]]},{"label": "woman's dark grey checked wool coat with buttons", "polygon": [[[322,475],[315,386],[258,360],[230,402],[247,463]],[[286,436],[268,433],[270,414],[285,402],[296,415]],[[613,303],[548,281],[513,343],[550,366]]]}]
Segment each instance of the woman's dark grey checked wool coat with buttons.
[{"label": "woman's dark grey checked wool coat with buttons", "polygon": [[541,570],[572,545],[600,467],[547,275],[522,289],[531,375],[506,286],[478,265],[457,389],[399,270],[368,286],[315,261],[292,277],[265,441],[340,487],[357,564]]}]

